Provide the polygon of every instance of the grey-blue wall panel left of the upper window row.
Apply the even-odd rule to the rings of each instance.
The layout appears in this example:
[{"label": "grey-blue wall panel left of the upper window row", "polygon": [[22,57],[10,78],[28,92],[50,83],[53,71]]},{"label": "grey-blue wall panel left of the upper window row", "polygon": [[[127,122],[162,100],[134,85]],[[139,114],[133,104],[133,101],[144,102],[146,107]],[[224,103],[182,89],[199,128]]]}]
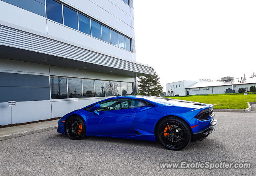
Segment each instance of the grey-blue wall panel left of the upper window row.
[{"label": "grey-blue wall panel left of the upper window row", "polygon": [[45,17],[44,0],[2,0],[2,1]]}]

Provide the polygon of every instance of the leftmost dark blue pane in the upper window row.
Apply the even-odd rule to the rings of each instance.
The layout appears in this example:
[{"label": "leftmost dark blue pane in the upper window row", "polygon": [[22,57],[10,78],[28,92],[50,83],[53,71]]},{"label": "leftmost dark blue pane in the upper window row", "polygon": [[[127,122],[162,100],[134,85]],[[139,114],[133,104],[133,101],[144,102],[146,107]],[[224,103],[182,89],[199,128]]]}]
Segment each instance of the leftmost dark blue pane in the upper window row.
[{"label": "leftmost dark blue pane in the upper window row", "polygon": [[62,4],[54,0],[46,0],[46,15],[48,19],[62,24]]}]

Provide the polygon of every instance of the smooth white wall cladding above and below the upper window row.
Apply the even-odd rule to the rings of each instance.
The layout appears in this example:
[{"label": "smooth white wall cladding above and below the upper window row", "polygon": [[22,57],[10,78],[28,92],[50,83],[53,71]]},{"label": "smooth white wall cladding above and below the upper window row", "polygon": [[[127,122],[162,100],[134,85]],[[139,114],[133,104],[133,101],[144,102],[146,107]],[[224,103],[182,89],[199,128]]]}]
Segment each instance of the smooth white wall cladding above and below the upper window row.
[{"label": "smooth white wall cladding above and below the upper window row", "polygon": [[[133,8],[121,0],[62,0],[62,2],[132,39],[135,38]],[[114,55],[115,57],[136,61],[135,53],[131,51],[116,47],[90,35],[71,29],[70,27],[52,22],[51,20],[47,20],[44,16],[19,8],[2,0],[0,0],[0,21],[17,25],[17,29],[19,29],[19,26],[21,28],[25,27],[35,31],[30,31],[31,33],[45,33],[57,37],[56,39],[60,38],[87,48],[92,48],[93,51],[96,52],[100,51]]]}]

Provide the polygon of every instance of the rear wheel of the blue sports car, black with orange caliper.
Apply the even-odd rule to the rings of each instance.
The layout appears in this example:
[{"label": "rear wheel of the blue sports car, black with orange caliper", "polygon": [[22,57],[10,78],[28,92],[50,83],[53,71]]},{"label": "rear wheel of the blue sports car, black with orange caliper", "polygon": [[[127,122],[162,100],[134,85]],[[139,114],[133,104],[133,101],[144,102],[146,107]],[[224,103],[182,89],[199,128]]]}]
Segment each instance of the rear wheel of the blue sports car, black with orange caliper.
[{"label": "rear wheel of the blue sports car, black with orange caliper", "polygon": [[191,141],[191,132],[184,121],[169,117],[158,124],[156,137],[167,149],[178,151],[188,146]]}]

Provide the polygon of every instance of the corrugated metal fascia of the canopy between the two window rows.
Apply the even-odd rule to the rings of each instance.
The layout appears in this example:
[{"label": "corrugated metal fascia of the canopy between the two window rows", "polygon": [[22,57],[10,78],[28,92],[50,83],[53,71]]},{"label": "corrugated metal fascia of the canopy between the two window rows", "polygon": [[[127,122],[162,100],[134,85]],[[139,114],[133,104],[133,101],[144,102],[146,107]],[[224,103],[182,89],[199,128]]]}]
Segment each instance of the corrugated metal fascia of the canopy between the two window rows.
[{"label": "corrugated metal fascia of the canopy between the two window rows", "polygon": [[58,57],[109,66],[144,74],[153,74],[153,68],[136,62],[126,61],[108,55],[96,53],[74,45],[34,35],[0,25],[0,45],[46,53]]}]

